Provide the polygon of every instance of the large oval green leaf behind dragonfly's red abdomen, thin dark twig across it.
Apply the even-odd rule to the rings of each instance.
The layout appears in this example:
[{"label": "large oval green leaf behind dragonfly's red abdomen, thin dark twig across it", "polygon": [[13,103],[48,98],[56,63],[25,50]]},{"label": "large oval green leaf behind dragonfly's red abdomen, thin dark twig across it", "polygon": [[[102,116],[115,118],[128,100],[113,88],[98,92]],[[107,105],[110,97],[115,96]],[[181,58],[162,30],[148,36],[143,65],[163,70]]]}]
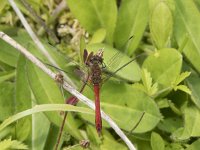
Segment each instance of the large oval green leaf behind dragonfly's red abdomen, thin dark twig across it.
[{"label": "large oval green leaf behind dragonfly's red abdomen, thin dark twig across it", "polygon": [[[91,89],[84,91],[88,97],[94,98]],[[123,130],[131,131],[139,122],[134,133],[144,133],[153,129],[161,119],[156,103],[143,91],[134,86],[106,83],[101,89],[101,108],[104,110]],[[81,115],[84,119],[94,123],[94,117]],[[109,127],[103,122],[103,126]]]}]

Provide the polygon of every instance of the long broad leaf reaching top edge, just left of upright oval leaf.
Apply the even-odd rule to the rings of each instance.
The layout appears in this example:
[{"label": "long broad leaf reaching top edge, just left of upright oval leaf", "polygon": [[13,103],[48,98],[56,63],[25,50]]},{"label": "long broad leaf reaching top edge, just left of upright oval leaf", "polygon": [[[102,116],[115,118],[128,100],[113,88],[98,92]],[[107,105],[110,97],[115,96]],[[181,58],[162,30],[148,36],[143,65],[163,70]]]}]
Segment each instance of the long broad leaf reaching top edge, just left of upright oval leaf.
[{"label": "long broad leaf reaching top edge, just left of upright oval leaf", "polygon": [[[118,49],[133,54],[144,34],[148,21],[147,0],[121,1],[114,42]],[[132,39],[129,38],[133,36]]]}]

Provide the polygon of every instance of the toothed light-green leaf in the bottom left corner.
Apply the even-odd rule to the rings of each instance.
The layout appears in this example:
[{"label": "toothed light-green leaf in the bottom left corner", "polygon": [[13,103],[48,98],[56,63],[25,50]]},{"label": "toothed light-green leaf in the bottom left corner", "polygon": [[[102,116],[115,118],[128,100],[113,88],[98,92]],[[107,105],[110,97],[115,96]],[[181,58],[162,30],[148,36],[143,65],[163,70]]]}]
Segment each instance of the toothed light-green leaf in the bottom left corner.
[{"label": "toothed light-green leaf in the bottom left corner", "polygon": [[8,149],[28,149],[28,146],[21,143],[17,140],[11,140],[11,139],[5,139],[3,141],[0,141],[0,147],[2,150],[8,150]]}]

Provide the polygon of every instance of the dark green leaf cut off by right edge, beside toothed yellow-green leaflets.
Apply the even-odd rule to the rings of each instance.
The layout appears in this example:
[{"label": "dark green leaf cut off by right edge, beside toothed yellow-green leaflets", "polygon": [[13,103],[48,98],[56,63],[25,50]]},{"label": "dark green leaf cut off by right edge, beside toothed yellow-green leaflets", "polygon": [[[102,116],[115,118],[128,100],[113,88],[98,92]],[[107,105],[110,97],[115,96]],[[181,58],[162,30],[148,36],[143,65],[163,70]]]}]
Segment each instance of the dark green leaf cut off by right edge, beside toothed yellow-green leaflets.
[{"label": "dark green leaf cut off by right edge, beside toothed yellow-green leaflets", "polygon": [[189,89],[192,91],[191,99],[200,108],[200,79],[197,75],[192,75],[186,79]]}]

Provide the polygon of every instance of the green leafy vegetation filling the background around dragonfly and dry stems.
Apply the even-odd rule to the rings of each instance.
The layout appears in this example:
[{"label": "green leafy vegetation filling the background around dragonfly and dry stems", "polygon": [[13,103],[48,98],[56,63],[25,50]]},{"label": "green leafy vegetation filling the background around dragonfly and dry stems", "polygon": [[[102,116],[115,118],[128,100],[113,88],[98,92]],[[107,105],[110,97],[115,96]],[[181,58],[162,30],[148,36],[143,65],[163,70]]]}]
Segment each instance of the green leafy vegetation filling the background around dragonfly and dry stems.
[{"label": "green leafy vegetation filling the background around dragonfly and dry stems", "polygon": [[[104,50],[107,73],[137,57],[101,88],[102,110],[137,149],[199,149],[199,0],[16,2],[77,89],[83,83],[74,69],[77,64],[83,67],[84,47],[94,52]],[[0,31],[50,64],[9,2],[0,0],[0,4]],[[94,99],[90,86],[83,94]],[[60,149],[82,149],[82,140],[89,141],[87,149],[127,149],[104,121],[102,137],[98,136],[94,113],[85,105],[63,105],[69,97],[58,83],[0,40],[1,149],[54,149],[63,111],[69,113]]]}]

